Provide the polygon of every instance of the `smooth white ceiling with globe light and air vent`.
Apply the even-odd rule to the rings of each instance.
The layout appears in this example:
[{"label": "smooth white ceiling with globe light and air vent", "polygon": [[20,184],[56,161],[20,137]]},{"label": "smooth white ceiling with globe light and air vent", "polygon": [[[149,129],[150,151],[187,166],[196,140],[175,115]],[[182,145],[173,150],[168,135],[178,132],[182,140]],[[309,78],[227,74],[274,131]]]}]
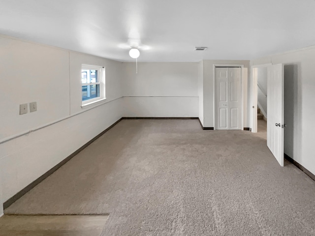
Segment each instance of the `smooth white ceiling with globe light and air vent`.
[{"label": "smooth white ceiling with globe light and air vent", "polygon": [[[0,33],[119,61],[254,59],[315,45],[315,0],[0,0]],[[195,46],[208,47],[196,52]]]}]

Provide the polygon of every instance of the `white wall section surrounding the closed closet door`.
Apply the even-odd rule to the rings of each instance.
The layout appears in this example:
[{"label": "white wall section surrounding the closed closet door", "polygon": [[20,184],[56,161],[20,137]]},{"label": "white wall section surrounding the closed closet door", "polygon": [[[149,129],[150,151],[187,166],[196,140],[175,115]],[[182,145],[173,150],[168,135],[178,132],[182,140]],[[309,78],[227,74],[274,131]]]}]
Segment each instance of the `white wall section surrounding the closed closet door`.
[{"label": "white wall section surrounding the closed closet door", "polygon": [[[249,60],[203,60],[203,126],[204,127],[215,127],[214,113],[214,64],[244,64],[244,68],[250,71],[250,61]],[[248,76],[249,77],[249,76]],[[247,80],[247,85],[249,85],[249,78]],[[248,87],[247,87],[248,88]],[[250,127],[249,116],[250,113],[247,112],[250,103],[247,99],[249,96],[249,89],[243,91],[245,94],[244,104],[244,127]]]}]

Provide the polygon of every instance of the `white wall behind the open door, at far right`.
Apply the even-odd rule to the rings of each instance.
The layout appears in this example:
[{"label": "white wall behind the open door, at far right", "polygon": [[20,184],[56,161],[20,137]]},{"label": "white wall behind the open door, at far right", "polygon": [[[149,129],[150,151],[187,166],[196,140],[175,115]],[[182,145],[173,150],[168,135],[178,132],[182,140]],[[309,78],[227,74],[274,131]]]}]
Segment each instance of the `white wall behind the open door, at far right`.
[{"label": "white wall behind the open door, at far right", "polygon": [[284,153],[315,174],[315,47],[251,61],[284,64]]}]

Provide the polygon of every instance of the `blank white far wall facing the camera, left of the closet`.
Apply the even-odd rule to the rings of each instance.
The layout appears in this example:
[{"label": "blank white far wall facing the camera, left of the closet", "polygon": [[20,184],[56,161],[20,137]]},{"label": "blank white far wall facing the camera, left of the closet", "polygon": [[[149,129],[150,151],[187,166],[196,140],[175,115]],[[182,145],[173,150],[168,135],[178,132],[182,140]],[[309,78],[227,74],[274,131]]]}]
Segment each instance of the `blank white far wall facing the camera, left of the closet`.
[{"label": "blank white far wall facing the camera, left of the closet", "polygon": [[124,63],[124,117],[198,117],[198,63]]}]

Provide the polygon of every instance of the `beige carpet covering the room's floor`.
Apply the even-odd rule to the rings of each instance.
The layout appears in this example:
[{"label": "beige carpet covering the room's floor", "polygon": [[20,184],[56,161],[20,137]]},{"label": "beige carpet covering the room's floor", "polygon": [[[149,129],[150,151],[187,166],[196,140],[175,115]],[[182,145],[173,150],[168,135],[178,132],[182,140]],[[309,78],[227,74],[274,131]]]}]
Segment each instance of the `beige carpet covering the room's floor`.
[{"label": "beige carpet covering the room's floor", "polygon": [[122,120],[5,213],[109,213],[102,236],[314,236],[315,181],[261,132]]}]

